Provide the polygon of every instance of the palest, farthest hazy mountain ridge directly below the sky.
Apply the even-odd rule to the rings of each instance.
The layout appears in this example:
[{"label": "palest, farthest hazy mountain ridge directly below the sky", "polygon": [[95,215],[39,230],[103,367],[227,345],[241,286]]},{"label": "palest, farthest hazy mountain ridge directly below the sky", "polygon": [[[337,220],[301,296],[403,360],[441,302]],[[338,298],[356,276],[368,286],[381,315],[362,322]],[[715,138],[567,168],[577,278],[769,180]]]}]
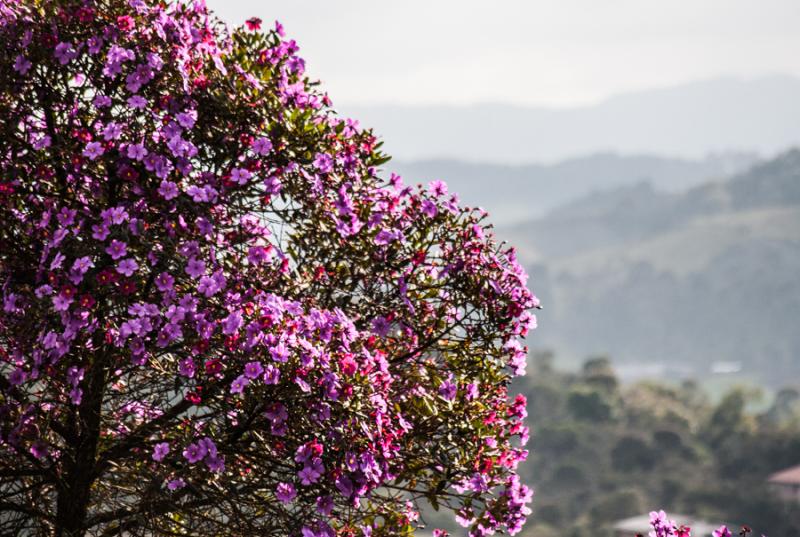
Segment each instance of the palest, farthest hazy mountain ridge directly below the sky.
[{"label": "palest, farthest hazy mountain ridge directly below the sky", "polygon": [[774,155],[800,144],[800,80],[718,78],[629,93],[579,108],[353,106],[399,160],[521,164],[597,152],[701,158]]}]

